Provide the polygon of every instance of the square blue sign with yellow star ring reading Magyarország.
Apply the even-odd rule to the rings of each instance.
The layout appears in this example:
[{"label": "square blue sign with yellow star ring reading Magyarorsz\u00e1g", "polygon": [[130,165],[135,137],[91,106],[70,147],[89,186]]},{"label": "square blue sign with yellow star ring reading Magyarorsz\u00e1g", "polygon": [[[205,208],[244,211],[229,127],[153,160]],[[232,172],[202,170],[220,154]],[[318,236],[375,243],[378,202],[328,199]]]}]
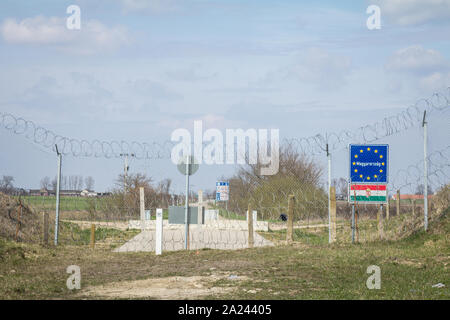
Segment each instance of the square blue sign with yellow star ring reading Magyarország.
[{"label": "square blue sign with yellow star ring reading Magyarorsz\u00e1g", "polygon": [[389,145],[351,144],[350,183],[388,183]]}]

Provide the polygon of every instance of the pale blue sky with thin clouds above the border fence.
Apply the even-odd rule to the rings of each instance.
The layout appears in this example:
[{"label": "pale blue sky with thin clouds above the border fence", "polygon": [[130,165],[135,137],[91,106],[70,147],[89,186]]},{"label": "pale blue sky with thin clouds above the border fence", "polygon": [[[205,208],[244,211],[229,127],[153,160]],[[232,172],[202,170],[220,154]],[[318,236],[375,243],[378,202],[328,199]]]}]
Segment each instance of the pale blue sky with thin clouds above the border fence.
[{"label": "pale blue sky with thin clouds above the border fence", "polygon": [[[81,30],[65,28],[71,4],[81,8]],[[379,30],[366,27],[371,4],[381,9]],[[194,120],[279,128],[286,138],[353,129],[450,85],[449,18],[448,0],[6,0],[0,111],[88,140],[164,141]],[[433,118],[435,149],[447,145],[448,120],[448,112]],[[420,160],[421,146],[405,156],[405,141],[392,142],[399,168]],[[0,143],[11,150],[0,174],[16,185],[54,175],[56,160],[39,146],[3,129]],[[66,163],[67,174],[93,175],[100,190],[122,170],[120,159]],[[163,160],[131,167],[183,189]],[[204,168],[193,183],[213,188],[233,170]]]}]

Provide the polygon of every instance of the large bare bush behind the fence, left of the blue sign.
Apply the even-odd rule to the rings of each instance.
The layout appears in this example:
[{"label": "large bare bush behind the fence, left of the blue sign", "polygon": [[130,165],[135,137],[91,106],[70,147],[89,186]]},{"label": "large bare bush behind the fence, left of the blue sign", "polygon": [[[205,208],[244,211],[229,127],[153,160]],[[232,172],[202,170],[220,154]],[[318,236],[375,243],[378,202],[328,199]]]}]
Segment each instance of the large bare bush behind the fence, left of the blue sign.
[{"label": "large bare bush behind the fence, left of the blue sign", "polygon": [[277,217],[287,208],[288,195],[296,197],[297,215],[326,214],[326,192],[321,188],[323,168],[290,144],[280,146],[279,171],[270,176],[260,174],[260,164],[246,165],[229,179],[228,210],[245,210],[249,203],[268,208]]}]

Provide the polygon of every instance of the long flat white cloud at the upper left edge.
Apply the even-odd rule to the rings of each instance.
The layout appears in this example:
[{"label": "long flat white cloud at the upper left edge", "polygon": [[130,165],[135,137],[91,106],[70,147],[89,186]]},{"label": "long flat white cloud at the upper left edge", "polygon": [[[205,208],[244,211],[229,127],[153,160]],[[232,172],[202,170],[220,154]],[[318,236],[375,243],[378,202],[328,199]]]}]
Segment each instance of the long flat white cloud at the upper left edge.
[{"label": "long flat white cloud at the upper left edge", "polygon": [[4,41],[12,44],[46,45],[75,54],[92,54],[116,49],[128,42],[121,26],[108,27],[97,20],[82,21],[80,30],[69,30],[65,18],[37,16],[16,21],[7,18],[0,25]]}]

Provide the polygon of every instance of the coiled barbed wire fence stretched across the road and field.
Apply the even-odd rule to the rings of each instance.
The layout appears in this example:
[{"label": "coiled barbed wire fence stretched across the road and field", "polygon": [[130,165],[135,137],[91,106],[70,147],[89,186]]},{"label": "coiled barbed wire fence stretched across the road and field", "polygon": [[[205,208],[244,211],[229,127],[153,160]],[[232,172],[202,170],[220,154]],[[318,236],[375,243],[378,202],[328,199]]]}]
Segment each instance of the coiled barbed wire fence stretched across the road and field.
[{"label": "coiled barbed wire fence stretched across the road and field", "polygon": [[[419,100],[413,106],[371,125],[361,126],[356,130],[337,133],[317,134],[306,138],[284,139],[285,159],[280,162],[280,171],[274,176],[261,177],[252,172],[252,168],[243,168],[234,177],[230,177],[230,200],[224,203],[213,199],[198,199],[189,195],[192,215],[196,208],[205,207],[205,211],[195,221],[202,219],[202,224],[193,223],[189,229],[189,248],[241,249],[249,242],[254,246],[285,243],[288,235],[290,212],[293,214],[292,239],[307,243],[326,243],[328,241],[328,190],[321,185],[325,172],[320,166],[314,166],[318,159],[323,159],[326,146],[334,154],[334,163],[346,163],[344,156],[350,143],[368,144],[385,142],[399,133],[420,126],[423,112],[443,114],[450,106],[450,88],[428,99]],[[47,130],[34,122],[16,117],[9,113],[0,113],[0,127],[25,137],[33,144],[46,151],[54,152],[58,146],[64,156],[77,158],[121,158],[123,154],[133,154],[137,161],[170,159],[175,145],[172,141],[164,142],[126,142],[104,140],[78,140],[67,138]],[[303,155],[309,155],[309,158]],[[48,156],[51,156],[49,154]],[[429,183],[438,191],[436,201],[431,201],[431,211],[440,214],[448,206],[448,185],[450,146],[433,150],[428,155]],[[298,166],[297,166],[298,165]],[[391,172],[389,190],[417,189],[423,181],[423,160]],[[254,168],[253,168],[254,169]],[[303,170],[303,171],[302,171]],[[122,177],[124,178],[124,177]],[[130,175],[129,180],[107,195],[62,195],[60,200],[59,243],[67,245],[88,245],[92,242],[91,226],[96,231],[96,246],[104,246],[117,251],[154,251],[156,244],[157,209],[163,210],[163,251],[181,250],[185,245],[183,223],[169,224],[169,210],[183,206],[186,197],[171,194],[163,186],[153,185],[143,177]],[[140,187],[144,188],[144,217],[141,209]],[[336,191],[337,192],[337,191]],[[294,201],[289,202],[289,197]],[[348,196],[348,195],[347,195]],[[444,200],[442,200],[442,199]],[[447,200],[445,200],[447,199]],[[42,241],[42,228],[48,226],[48,234],[54,234],[55,199],[52,196],[22,195],[20,208],[22,222],[17,216],[19,210],[14,201],[6,197],[2,200],[8,209],[4,222],[15,228],[4,231],[11,235],[17,233],[20,239]],[[423,201],[390,201],[383,222],[384,239],[397,239],[416,230],[423,216]],[[447,202],[445,202],[447,201]],[[442,203],[441,203],[442,202]],[[433,208],[434,206],[434,208]],[[350,242],[350,204],[346,199],[336,201],[338,242]],[[400,208],[400,209],[397,209]],[[247,212],[255,210],[256,220],[253,225],[253,239],[249,238]],[[22,210],[22,209],[21,209]],[[198,210],[198,209],[197,209]],[[202,209],[200,209],[201,211]],[[379,236],[378,208],[373,205],[359,205],[358,240],[375,241]],[[386,210],[386,209],[385,209]],[[38,219],[33,222],[27,218],[34,211]],[[388,213],[389,212],[389,213]],[[253,218],[253,215],[251,215]],[[434,217],[434,216],[432,216]],[[2,218],[3,219],[3,218]],[[29,219],[29,220],[26,220]],[[29,231],[25,222],[33,225]],[[17,227],[19,226],[19,227]],[[38,226],[38,227],[36,227]],[[19,231],[17,231],[19,230]],[[47,237],[49,237],[47,235]],[[47,239],[48,241],[49,239]],[[50,242],[50,241],[49,241]]]}]

